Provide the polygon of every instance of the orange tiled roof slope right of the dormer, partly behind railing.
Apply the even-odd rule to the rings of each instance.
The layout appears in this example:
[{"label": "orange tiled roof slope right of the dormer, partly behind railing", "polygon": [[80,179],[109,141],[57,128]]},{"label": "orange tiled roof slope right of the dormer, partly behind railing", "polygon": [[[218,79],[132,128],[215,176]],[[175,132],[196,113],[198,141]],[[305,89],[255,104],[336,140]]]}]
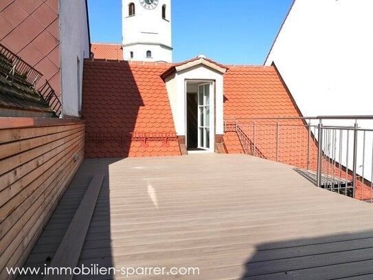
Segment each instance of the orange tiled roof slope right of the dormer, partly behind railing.
[{"label": "orange tiled roof slope right of the dormer, partly behind railing", "polygon": [[[275,67],[229,66],[224,76],[224,118],[275,118],[299,117],[300,113],[286,89]],[[233,122],[233,121],[232,121]],[[256,123],[256,155],[275,160],[276,120],[239,120],[242,131],[253,144],[253,122]],[[227,121],[229,123],[229,120]],[[235,121],[234,121],[235,123]],[[264,125],[265,123],[265,125]],[[286,131],[280,131],[279,161],[287,164],[306,166],[308,151],[308,131],[302,120],[280,121]],[[295,127],[297,126],[297,127]],[[299,127],[298,127],[299,126]],[[293,129],[291,131],[291,129]],[[235,131],[235,127],[233,129]],[[296,130],[296,131],[295,131]],[[284,133],[295,133],[299,138],[284,137]],[[225,144],[229,153],[243,153],[236,133],[225,133]],[[295,135],[294,134],[294,135]],[[316,146],[313,143],[312,151]],[[289,155],[293,150],[297,155]],[[317,153],[313,153],[313,157]]]}]

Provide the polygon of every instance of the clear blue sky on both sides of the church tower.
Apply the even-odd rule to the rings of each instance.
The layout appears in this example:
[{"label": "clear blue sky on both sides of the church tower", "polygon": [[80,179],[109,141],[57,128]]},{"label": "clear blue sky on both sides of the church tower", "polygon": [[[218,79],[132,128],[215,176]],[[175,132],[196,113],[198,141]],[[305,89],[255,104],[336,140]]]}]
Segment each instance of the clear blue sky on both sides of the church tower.
[{"label": "clear blue sky on both sides of the church tower", "polygon": [[[135,0],[138,1],[138,0]],[[262,65],[293,0],[173,0],[173,61]],[[122,0],[89,0],[93,43],[121,43]]]}]

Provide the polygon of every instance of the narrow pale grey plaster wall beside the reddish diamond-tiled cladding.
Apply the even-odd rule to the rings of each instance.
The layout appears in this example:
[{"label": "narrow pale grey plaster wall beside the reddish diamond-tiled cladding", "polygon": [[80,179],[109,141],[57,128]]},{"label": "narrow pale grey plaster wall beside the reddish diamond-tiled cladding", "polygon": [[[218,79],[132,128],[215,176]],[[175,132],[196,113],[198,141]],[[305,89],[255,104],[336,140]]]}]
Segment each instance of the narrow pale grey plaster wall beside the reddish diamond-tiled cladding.
[{"label": "narrow pale grey plaster wall beside the reddish diamond-tiled cladding", "polygon": [[[63,116],[79,116],[84,58],[89,58],[89,27],[84,0],[59,0]],[[79,63],[78,63],[79,61]]]}]

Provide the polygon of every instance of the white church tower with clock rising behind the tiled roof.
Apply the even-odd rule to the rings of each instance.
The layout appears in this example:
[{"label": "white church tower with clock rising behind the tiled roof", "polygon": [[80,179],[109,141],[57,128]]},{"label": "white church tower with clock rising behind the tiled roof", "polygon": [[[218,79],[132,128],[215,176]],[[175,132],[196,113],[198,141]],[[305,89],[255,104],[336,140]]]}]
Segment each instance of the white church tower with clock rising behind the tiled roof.
[{"label": "white church tower with clock rising behind the tiled roof", "polygon": [[126,61],[172,62],[171,0],[122,0]]}]

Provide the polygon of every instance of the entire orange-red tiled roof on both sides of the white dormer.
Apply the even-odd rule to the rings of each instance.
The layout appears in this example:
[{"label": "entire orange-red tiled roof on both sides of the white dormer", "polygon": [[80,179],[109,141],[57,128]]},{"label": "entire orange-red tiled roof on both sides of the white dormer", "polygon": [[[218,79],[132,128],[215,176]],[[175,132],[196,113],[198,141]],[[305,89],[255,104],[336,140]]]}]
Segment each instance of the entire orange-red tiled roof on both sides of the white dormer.
[{"label": "entire orange-red tiled roof on both sides of the white dormer", "polygon": [[[87,157],[180,155],[166,85],[161,79],[174,65],[85,61],[82,109],[87,120]],[[233,65],[225,68],[228,70],[224,75],[224,118],[227,120],[224,142],[228,153],[243,153],[236,120],[229,120],[241,118],[238,127],[245,132],[249,145],[255,142],[256,155],[306,168],[308,129],[302,120],[244,119],[301,116],[275,67]],[[275,137],[277,123],[281,125],[278,139]],[[291,135],[294,137],[289,137]],[[274,149],[276,141],[280,147],[278,154]],[[253,151],[252,147],[249,149]],[[317,145],[313,140],[310,152],[310,169],[316,170]],[[357,197],[360,195],[361,184],[358,184]],[[370,189],[365,186],[364,197],[369,195]]]}]

